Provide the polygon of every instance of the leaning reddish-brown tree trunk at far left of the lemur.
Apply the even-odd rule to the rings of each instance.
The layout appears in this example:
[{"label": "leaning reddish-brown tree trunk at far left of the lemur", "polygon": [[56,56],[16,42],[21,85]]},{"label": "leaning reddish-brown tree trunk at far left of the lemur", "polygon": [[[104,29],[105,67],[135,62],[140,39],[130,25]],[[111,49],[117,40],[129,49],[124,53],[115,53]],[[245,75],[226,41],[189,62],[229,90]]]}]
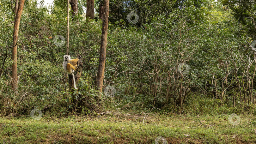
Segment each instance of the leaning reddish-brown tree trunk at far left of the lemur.
[{"label": "leaning reddish-brown tree trunk at far left of the lemur", "polygon": [[[21,22],[21,13],[24,7],[25,0],[20,0],[20,3],[17,7],[17,13],[14,21],[14,29],[13,29],[13,41],[12,45],[15,45],[18,40],[19,27]],[[17,6],[17,5],[16,5]],[[13,47],[12,50],[12,89],[16,90],[18,85],[18,73],[17,73],[17,45]]]}]

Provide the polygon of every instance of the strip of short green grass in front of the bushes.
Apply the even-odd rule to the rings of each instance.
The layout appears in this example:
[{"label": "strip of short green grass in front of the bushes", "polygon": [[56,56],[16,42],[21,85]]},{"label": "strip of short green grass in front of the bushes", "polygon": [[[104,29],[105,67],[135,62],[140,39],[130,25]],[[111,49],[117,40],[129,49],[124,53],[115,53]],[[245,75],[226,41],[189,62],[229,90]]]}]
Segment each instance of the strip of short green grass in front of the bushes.
[{"label": "strip of short green grass in front of the bushes", "polygon": [[[234,126],[239,117],[240,123]],[[154,144],[155,139],[162,136],[167,143],[256,143],[255,116],[239,117],[234,122],[235,118],[229,121],[228,114],[151,116],[144,125],[141,119],[111,115],[68,118],[43,116],[40,120],[5,117],[0,118],[0,142]]]}]

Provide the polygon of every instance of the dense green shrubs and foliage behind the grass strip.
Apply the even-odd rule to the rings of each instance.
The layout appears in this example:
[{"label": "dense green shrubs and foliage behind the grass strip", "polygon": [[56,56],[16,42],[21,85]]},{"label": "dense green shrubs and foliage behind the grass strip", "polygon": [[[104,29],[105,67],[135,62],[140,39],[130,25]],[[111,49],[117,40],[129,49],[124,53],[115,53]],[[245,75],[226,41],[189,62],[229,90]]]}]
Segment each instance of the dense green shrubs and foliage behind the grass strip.
[{"label": "dense green shrubs and foliage behind the grass strip", "polygon": [[[116,93],[111,98],[102,92],[103,108],[136,112],[143,109],[148,113],[155,107],[162,108],[162,112],[186,112],[194,105],[199,108],[206,104],[255,113],[256,55],[250,47],[252,35],[219,2],[168,2],[163,7],[165,1],[134,1],[136,4],[131,5],[139,5],[137,9],[121,7],[125,9],[121,16],[110,13],[104,88],[114,87]],[[18,44],[18,92],[10,88],[9,50],[0,79],[3,115],[28,114],[33,108],[50,108],[57,115],[71,110],[83,114],[95,110],[101,20],[84,20],[78,15],[79,23],[70,21],[69,54],[71,58],[77,53],[83,56],[79,90],[72,91],[62,69],[65,44],[54,44],[55,36],[66,35],[66,14],[63,3],[54,4],[51,11],[36,1],[27,1],[24,7]],[[5,47],[12,44],[14,14],[10,1],[1,0],[0,6],[2,64]],[[142,8],[147,13],[139,11]],[[151,15],[148,9],[155,13]],[[165,9],[168,12],[162,13]],[[126,20],[127,11],[139,14],[138,24]]]}]

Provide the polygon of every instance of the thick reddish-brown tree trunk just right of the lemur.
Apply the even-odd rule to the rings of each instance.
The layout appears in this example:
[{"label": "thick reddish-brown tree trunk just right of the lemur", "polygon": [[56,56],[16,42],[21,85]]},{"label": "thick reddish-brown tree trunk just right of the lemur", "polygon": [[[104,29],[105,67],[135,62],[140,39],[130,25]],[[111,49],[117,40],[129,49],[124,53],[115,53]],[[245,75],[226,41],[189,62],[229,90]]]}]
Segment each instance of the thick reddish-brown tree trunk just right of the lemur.
[{"label": "thick reddish-brown tree trunk just right of the lemur", "polygon": [[[96,80],[96,87],[97,87],[97,90],[99,90],[100,92],[102,91],[105,62],[106,62],[109,0],[104,0],[103,10],[104,10],[104,13],[102,16],[101,51],[100,51],[100,61],[99,61],[97,80]],[[97,99],[97,103],[99,105],[99,99]]]}]

